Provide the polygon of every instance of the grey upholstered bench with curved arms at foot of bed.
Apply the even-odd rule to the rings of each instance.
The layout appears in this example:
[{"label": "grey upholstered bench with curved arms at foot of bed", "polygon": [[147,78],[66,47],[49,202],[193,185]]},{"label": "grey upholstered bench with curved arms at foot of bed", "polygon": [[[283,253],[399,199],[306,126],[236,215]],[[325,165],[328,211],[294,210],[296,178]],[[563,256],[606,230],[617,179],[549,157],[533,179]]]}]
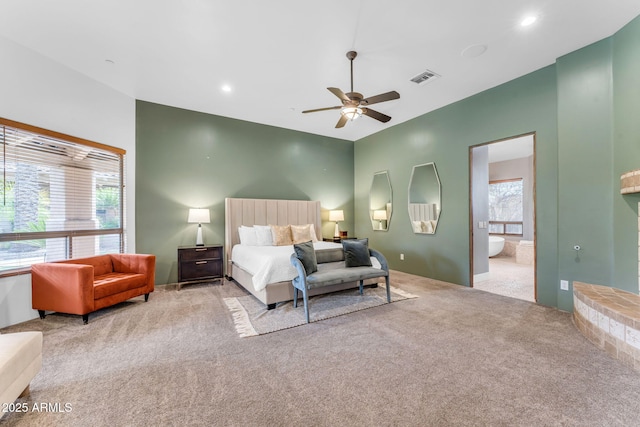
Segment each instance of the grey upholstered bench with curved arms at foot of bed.
[{"label": "grey upholstered bench with curved arms at foot of bed", "polygon": [[[298,307],[298,291],[302,291],[304,315],[309,323],[310,289],[339,285],[348,282],[359,282],[360,295],[363,294],[364,281],[379,277],[385,278],[387,302],[391,302],[389,288],[389,266],[380,252],[368,247],[367,239],[344,240],[343,249],[314,251],[313,243],[306,242],[293,245],[291,264],[296,268],[298,276],[292,280],[293,307]],[[371,258],[375,258],[379,266],[374,266]],[[345,266],[330,270],[318,271],[318,264],[344,260]]]}]

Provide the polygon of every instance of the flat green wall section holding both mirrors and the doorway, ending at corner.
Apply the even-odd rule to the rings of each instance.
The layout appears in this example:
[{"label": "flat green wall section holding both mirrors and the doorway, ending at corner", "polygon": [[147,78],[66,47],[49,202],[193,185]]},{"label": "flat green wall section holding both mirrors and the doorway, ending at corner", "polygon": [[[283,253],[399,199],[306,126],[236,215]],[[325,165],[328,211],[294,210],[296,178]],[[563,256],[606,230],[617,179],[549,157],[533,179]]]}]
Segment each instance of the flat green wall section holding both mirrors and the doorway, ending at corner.
[{"label": "flat green wall section holding both mirrors and the doorway, ending at corner", "polygon": [[[428,86],[416,88],[428,90]],[[355,144],[356,234],[369,237],[391,268],[438,280],[470,284],[469,147],[536,132],[539,203],[538,283],[557,278],[557,112],[553,66],[393,126]],[[442,211],[434,235],[414,234],[407,200],[412,167],[435,162]],[[388,170],[394,215],[388,232],[366,222],[374,172]],[[404,254],[404,261],[400,260]],[[539,287],[538,300],[556,305],[557,293]]]}]

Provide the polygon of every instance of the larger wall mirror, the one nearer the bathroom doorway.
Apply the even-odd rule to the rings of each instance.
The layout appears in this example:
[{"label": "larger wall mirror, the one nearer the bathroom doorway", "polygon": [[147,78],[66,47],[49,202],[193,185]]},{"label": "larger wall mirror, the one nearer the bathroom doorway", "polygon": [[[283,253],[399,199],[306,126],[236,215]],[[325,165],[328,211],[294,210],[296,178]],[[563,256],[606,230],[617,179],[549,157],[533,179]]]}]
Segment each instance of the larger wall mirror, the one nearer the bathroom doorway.
[{"label": "larger wall mirror, the one nearer the bathroom doorway", "polygon": [[409,180],[409,219],[417,234],[434,234],[440,219],[440,178],[435,163],[416,165]]}]

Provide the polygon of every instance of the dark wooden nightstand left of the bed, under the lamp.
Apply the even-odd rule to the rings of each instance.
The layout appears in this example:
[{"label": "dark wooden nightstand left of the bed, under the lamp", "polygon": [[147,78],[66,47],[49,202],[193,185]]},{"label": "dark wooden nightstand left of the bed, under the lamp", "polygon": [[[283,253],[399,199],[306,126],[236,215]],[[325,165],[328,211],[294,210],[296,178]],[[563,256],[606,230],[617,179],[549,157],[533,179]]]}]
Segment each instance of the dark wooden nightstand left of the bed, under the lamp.
[{"label": "dark wooden nightstand left of the bed, under the lamp", "polygon": [[222,275],[222,245],[178,247],[178,290],[183,283],[220,279]]}]

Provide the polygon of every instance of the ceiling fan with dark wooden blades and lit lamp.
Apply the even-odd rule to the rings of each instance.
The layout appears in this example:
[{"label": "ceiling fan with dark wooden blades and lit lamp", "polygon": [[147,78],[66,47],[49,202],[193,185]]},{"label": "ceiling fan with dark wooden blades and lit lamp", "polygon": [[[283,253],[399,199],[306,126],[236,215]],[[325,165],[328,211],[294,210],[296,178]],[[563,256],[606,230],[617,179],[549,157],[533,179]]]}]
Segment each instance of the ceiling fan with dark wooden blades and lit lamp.
[{"label": "ceiling fan with dark wooden blades and lit lamp", "polygon": [[391,120],[391,117],[387,116],[386,114],[382,114],[367,107],[372,104],[377,104],[378,102],[398,99],[400,98],[400,94],[398,92],[394,90],[391,92],[381,93],[380,95],[370,96],[369,98],[364,98],[361,93],[353,91],[353,60],[357,55],[358,53],[352,50],[347,52],[347,58],[351,63],[351,92],[344,93],[337,87],[327,88],[331,93],[340,98],[340,100],[342,101],[342,105],[337,105],[335,107],[317,108],[315,110],[305,110],[303,111],[303,113],[315,113],[316,111],[327,110],[341,110],[340,119],[338,120],[338,123],[336,123],[336,128],[343,127],[349,120],[353,121],[363,114],[365,116],[371,117],[372,119],[379,120],[382,123],[386,123]]}]

